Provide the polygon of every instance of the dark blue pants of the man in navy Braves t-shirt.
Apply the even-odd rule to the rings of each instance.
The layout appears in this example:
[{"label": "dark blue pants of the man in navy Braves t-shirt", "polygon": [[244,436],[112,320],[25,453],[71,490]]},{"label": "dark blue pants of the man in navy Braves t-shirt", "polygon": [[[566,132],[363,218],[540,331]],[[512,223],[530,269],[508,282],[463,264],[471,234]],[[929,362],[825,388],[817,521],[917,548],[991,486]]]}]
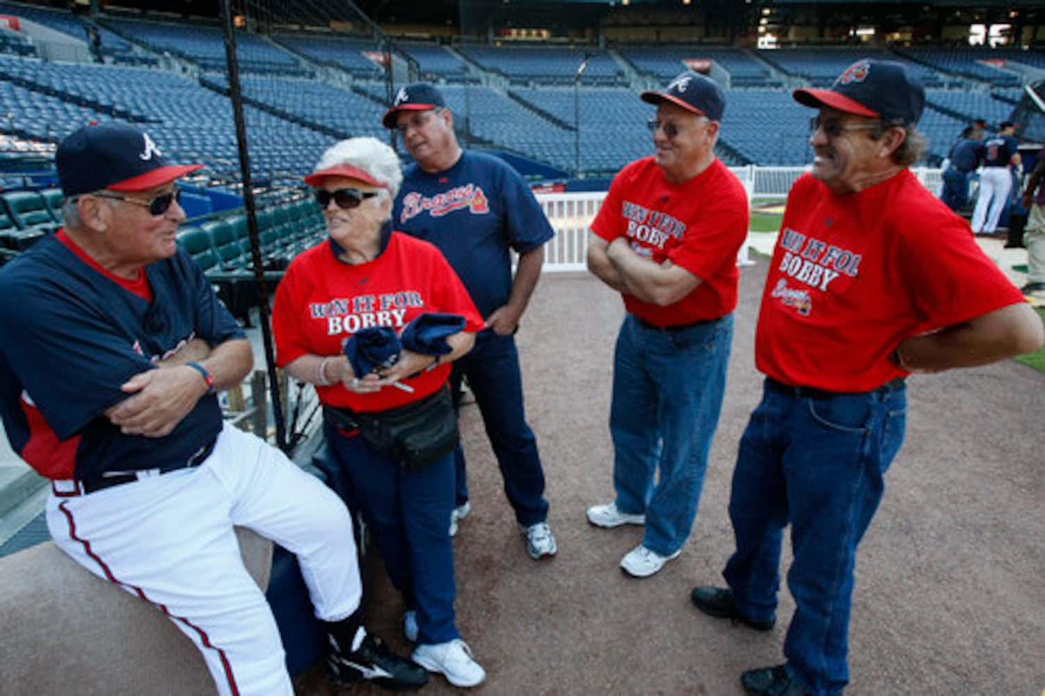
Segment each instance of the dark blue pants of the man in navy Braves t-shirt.
[{"label": "dark blue pants of the man in navy Braves t-shirt", "polygon": [[[537,438],[526,422],[522,375],[515,338],[492,330],[475,334],[475,347],[454,362],[450,386],[455,401],[461,380],[468,387],[483,415],[486,435],[505,481],[505,495],[515,510],[515,519],[526,527],[548,519],[544,471],[537,453]],[[464,449],[454,453],[457,470],[457,505],[468,500]]]}]

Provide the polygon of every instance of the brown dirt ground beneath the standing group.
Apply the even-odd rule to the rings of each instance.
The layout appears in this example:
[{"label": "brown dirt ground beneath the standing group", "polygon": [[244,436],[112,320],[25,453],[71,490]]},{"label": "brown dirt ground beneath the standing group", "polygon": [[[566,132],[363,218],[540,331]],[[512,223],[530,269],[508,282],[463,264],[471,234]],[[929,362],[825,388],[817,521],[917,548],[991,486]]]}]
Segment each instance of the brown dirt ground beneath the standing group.
[{"label": "brown dirt ground beneath the standing group", "polygon": [[[591,527],[611,500],[607,427],[619,296],[593,277],[545,274],[518,333],[528,415],[548,478],[558,556],[526,554],[474,405],[463,410],[471,514],[454,541],[458,625],[487,680],[475,693],[743,693],[740,673],[783,662],[794,604],[768,633],[699,613],[694,584],[721,582],[737,443],[759,400],[753,334],[766,261],[742,272],[721,423],[681,556],[645,579],[618,563],[640,528]],[[800,347],[796,346],[796,350]],[[1039,696],[1045,689],[1045,375],[1001,364],[909,379],[908,427],[861,547],[846,694]],[[785,566],[789,555],[785,551]],[[402,605],[379,563],[369,626],[400,651]],[[299,694],[336,690],[309,670]],[[433,675],[424,693],[459,690]]]}]

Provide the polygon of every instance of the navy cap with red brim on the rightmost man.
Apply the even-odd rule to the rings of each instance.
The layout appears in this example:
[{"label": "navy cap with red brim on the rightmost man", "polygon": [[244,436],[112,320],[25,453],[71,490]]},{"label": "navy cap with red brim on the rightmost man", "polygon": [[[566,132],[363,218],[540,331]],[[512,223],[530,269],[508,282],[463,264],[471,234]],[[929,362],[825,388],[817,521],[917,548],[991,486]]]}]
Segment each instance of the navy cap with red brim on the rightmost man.
[{"label": "navy cap with red brim on the rightmost man", "polygon": [[903,63],[857,61],[838,75],[830,89],[800,89],[792,93],[798,103],[820,109],[830,107],[847,114],[881,118],[910,125],[922,117],[925,89]]}]

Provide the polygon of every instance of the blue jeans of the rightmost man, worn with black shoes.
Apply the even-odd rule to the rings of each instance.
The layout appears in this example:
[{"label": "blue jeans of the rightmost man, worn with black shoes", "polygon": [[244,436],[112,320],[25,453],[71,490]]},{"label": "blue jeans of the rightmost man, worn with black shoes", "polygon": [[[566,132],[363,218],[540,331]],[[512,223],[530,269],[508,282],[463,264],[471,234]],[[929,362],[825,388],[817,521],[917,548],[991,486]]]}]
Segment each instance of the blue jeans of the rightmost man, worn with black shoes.
[{"label": "blue jeans of the rightmost man, worn with black shoes", "polygon": [[903,443],[906,404],[902,385],[820,398],[767,380],[740,441],[729,500],[737,551],[723,575],[743,614],[773,618],[791,525],[788,586],[797,606],[784,654],[792,678],[817,695],[849,682],[856,549]]}]

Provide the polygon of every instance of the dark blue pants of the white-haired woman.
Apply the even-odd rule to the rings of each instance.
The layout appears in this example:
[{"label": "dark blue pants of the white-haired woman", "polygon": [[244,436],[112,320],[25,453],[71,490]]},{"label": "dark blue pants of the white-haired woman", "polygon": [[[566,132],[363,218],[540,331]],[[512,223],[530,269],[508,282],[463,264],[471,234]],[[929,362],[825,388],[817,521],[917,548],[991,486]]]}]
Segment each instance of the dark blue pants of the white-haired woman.
[{"label": "dark blue pants of the white-haired woman", "polygon": [[455,625],[457,586],[448,531],[452,455],[407,469],[374,451],[362,435],[346,437],[329,423],[323,433],[339,464],[339,475],[328,483],[353,513],[363,513],[392,585],[407,608],[417,609],[418,643],[461,637]]}]

